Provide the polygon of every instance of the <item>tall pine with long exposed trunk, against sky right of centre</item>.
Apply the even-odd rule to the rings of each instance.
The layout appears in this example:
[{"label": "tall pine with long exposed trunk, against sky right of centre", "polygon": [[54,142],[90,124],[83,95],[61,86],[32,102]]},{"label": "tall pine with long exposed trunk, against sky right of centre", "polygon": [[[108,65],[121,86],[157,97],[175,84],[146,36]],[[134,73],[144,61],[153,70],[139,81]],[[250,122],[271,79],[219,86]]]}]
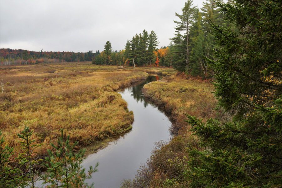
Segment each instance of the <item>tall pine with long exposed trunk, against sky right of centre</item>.
[{"label": "tall pine with long exposed trunk, against sky right of centre", "polygon": [[175,13],[175,15],[180,19],[180,21],[174,21],[176,23],[176,34],[179,35],[180,32],[184,32],[185,36],[185,59],[186,59],[186,65],[182,69],[186,69],[189,71],[189,57],[190,57],[190,48],[189,48],[189,38],[190,38],[190,30],[191,30],[191,24],[193,22],[193,14],[195,12],[196,8],[193,7],[193,3],[191,0],[187,0],[185,2],[185,6],[182,8],[182,14]]}]

